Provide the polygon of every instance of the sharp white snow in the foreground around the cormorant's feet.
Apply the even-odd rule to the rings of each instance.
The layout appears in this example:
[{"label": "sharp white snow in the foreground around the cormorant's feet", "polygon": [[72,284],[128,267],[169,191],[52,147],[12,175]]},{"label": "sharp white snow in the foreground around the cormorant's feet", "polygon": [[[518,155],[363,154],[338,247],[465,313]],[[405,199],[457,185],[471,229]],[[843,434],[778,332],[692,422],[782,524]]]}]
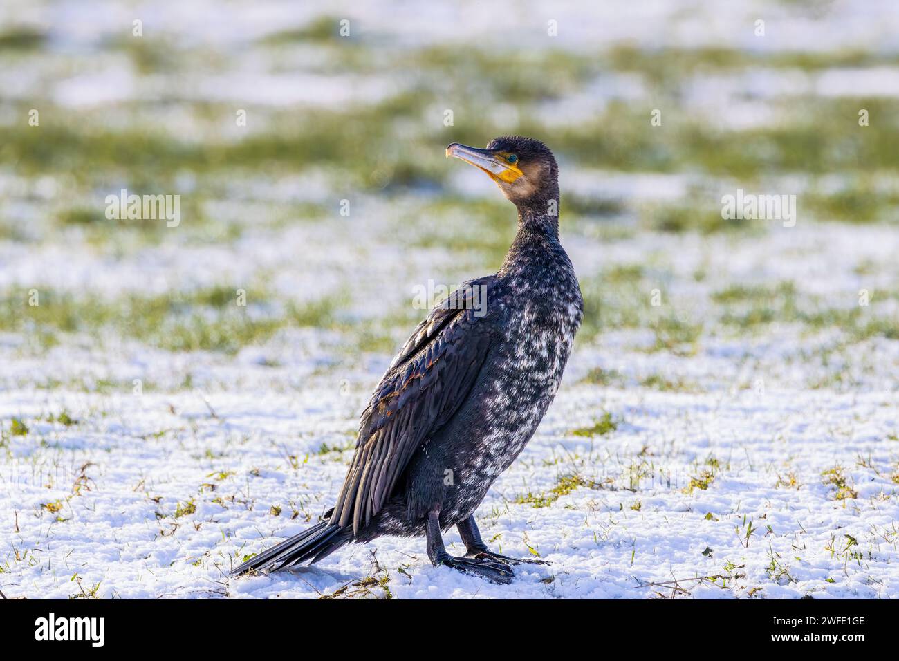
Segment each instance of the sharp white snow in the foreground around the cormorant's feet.
[{"label": "sharp white snow in the foreground around the cormorant's feet", "polygon": [[[11,563],[4,592],[65,598],[76,591],[68,578],[77,574],[107,597],[315,597],[367,576],[373,554],[391,593],[402,598],[645,598],[672,589],[646,584],[677,579],[691,589],[699,576],[729,576],[703,590],[708,598],[753,588],[778,598],[884,598],[899,590],[897,487],[888,477],[899,448],[886,437],[899,431],[895,394],[696,396],[583,386],[560,392],[478,511],[485,540],[504,554],[532,557],[530,547],[551,563],[518,567],[512,585],[431,567],[423,540],[393,538],[341,549],[295,574],[225,578],[235,552],[301,531],[305,517],[321,514],[336,496],[349,452],[315,453],[323,442],[349,438],[364,390],[354,385],[351,393],[342,396],[334,384],[289,395],[220,393],[209,396],[216,418],[191,395],[54,393],[35,402],[31,393],[10,393],[0,415],[63,404],[76,418],[96,406],[104,415],[76,432],[35,425],[34,436],[52,448],[40,461],[33,460],[34,436],[13,442],[16,460],[2,475],[4,521],[18,513],[10,541],[27,555]],[[590,424],[599,409],[623,419],[616,432],[594,442],[567,433],[572,424]],[[298,457],[296,469],[288,453]],[[690,478],[712,459],[717,477],[708,490],[689,493]],[[70,495],[86,462],[93,462],[84,470],[88,490],[58,514],[41,510]],[[821,473],[834,465],[845,468],[858,498],[834,500],[834,488],[822,484]],[[515,503],[572,472],[598,486],[548,507]],[[797,487],[778,487],[788,474]],[[166,496],[156,502],[159,494]],[[191,499],[196,512],[172,518]],[[293,521],[290,504],[301,512]],[[271,505],[282,514],[272,516]],[[167,516],[157,520],[157,513]],[[748,544],[747,522],[755,529]],[[844,552],[848,536],[858,542],[850,553],[859,551],[859,559]],[[447,541],[450,552],[461,552],[455,532]],[[789,578],[772,577],[781,570]]]}]

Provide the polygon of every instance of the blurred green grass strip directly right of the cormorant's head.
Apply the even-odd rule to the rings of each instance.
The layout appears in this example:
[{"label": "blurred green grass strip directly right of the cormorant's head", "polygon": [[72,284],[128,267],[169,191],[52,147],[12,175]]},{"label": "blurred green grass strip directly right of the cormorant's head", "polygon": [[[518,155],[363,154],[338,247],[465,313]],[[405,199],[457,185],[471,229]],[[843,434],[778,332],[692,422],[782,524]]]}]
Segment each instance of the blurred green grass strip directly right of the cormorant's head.
[{"label": "blurred green grass strip directly right of the cormorant's head", "polygon": [[[885,118],[877,130],[858,126],[859,107]],[[700,171],[752,182],[787,172],[893,171],[892,155],[899,147],[894,110],[882,100],[816,100],[803,115],[776,124],[717,130],[676,111],[665,115],[663,127],[650,128],[648,112],[638,115],[627,103],[610,103],[595,121],[553,130],[552,135],[555,148],[578,162],[629,172]],[[615,130],[608,130],[610,126]],[[538,125],[526,128],[536,135],[545,133]],[[713,198],[709,200],[710,223]],[[677,227],[683,219],[675,216],[666,222]],[[714,222],[720,223],[720,217]]]}]

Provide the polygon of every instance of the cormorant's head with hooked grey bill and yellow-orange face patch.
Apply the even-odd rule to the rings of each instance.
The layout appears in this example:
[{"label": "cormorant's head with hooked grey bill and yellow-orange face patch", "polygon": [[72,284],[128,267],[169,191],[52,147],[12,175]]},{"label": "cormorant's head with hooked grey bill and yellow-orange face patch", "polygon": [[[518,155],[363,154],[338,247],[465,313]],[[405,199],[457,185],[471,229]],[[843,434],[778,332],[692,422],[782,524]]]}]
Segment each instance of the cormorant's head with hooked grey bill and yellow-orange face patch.
[{"label": "cormorant's head with hooked grey bill and yellow-orange face patch", "polygon": [[485,149],[454,142],[447,157],[456,156],[483,170],[516,206],[558,198],[558,167],[549,147],[534,138],[501,136]]}]

